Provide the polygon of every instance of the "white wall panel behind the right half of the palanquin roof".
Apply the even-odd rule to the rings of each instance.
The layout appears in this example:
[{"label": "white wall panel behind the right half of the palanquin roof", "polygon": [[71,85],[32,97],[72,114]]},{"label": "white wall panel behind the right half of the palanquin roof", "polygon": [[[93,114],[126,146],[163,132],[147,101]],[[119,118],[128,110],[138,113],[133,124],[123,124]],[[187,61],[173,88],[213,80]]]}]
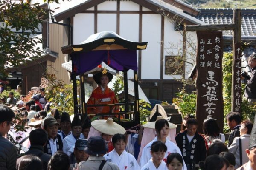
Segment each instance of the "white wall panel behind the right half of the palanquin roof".
[{"label": "white wall panel behind the right half of the palanquin roof", "polygon": [[[124,1],[121,1],[120,3],[123,2]],[[139,14],[120,14],[120,36],[129,41],[139,42]],[[134,78],[132,70],[128,71],[127,77],[128,79]]]}]

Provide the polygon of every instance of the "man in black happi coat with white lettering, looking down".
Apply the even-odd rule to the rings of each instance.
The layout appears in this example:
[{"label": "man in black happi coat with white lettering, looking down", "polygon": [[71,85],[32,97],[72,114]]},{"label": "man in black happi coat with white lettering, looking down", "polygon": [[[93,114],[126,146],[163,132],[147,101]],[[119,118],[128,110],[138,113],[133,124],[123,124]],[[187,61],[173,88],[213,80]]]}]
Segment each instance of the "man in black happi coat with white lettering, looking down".
[{"label": "man in black happi coat with white lettering, looking down", "polygon": [[178,133],[175,137],[177,146],[182,150],[182,156],[186,165],[192,167],[193,161],[198,164],[206,158],[207,143],[201,134],[197,132],[198,121],[196,119],[188,119],[187,130]]}]

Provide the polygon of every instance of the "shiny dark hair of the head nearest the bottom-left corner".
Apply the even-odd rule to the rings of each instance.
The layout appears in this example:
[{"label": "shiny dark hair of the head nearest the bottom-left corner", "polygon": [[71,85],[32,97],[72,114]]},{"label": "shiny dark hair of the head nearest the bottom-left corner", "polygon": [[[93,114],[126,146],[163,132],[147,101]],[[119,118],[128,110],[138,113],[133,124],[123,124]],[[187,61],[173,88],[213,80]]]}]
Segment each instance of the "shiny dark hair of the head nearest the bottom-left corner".
[{"label": "shiny dark hair of the head nearest the bottom-left corner", "polygon": [[17,170],[43,170],[43,162],[35,155],[25,155],[20,159]]}]

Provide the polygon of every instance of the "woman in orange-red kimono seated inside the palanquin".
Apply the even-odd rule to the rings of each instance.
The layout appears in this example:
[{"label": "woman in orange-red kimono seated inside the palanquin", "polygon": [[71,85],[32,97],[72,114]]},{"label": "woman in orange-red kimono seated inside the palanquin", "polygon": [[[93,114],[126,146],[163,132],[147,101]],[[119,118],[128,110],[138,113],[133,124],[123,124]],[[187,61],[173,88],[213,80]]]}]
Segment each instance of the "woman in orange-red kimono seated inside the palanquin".
[{"label": "woman in orange-red kimono seated inside the palanquin", "polygon": [[[108,83],[113,79],[113,75],[111,73],[104,69],[102,72],[94,74],[93,79],[98,84],[98,87],[93,90],[90,98],[88,99],[88,105],[118,103],[114,91],[108,88]],[[119,106],[113,106],[111,110],[109,106],[88,107],[87,113],[119,113],[119,109]]]}]

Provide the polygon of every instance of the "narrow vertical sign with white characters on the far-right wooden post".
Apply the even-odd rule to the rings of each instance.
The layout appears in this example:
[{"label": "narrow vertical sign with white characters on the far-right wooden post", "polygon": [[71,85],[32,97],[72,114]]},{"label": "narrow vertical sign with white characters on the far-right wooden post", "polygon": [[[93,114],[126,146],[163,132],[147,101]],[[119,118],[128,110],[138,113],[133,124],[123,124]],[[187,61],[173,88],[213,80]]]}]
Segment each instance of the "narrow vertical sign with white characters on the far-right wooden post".
[{"label": "narrow vertical sign with white characters on the far-right wooden post", "polygon": [[233,65],[232,69],[232,90],[233,90],[233,101],[232,102],[232,111],[241,113],[241,102],[242,102],[242,94],[241,94],[241,43],[235,43],[234,45],[235,53],[233,56],[233,60],[235,61],[235,65]]}]

